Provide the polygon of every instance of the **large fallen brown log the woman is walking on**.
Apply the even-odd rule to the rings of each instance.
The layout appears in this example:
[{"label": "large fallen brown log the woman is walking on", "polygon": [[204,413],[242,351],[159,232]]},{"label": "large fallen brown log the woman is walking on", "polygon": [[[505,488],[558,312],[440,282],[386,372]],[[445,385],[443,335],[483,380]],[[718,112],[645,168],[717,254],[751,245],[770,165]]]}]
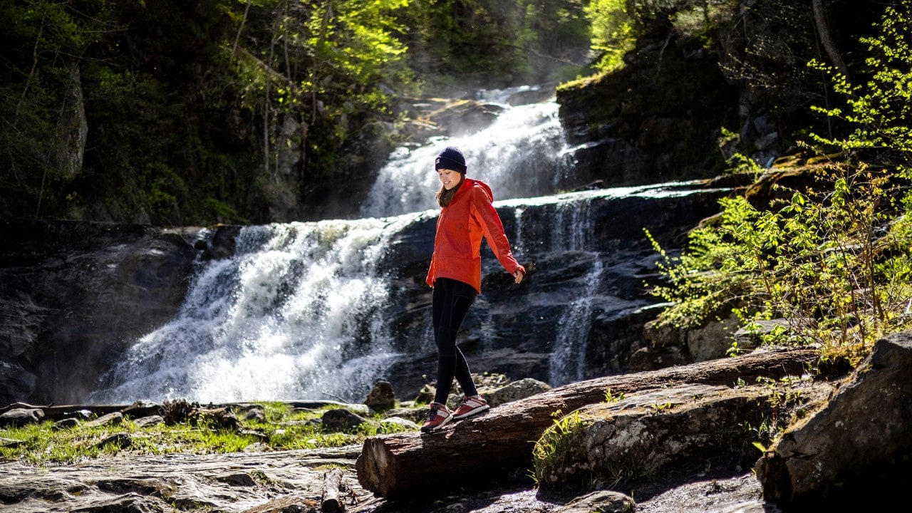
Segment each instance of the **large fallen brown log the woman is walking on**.
[{"label": "large fallen brown log the woman is walking on", "polygon": [[617,396],[682,383],[732,386],[739,379],[779,379],[805,372],[816,359],[814,350],[759,351],[606,376],[505,403],[430,434],[372,436],[365,440],[355,465],[358,481],[375,495],[397,498],[500,480],[517,471],[526,474],[532,466],[533,446],[544,430],[563,414],[604,402],[609,390]]}]

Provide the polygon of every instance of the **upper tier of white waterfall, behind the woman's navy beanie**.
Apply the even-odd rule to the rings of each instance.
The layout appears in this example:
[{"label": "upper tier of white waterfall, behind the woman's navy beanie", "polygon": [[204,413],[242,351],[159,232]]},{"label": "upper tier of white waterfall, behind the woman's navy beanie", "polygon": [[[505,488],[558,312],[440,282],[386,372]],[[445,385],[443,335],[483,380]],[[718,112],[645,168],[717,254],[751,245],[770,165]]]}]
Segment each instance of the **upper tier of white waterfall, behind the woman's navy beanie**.
[{"label": "upper tier of white waterfall, behind the woman's navy beanie", "polygon": [[[483,98],[502,102],[506,93]],[[491,185],[495,199],[555,194],[565,173],[564,132],[554,99],[510,106],[486,129],[453,138],[435,138],[417,148],[401,147],[389,156],[361,206],[362,217],[400,215],[435,208],[440,189],[434,159],[456,146],[466,158],[467,176]]]}]

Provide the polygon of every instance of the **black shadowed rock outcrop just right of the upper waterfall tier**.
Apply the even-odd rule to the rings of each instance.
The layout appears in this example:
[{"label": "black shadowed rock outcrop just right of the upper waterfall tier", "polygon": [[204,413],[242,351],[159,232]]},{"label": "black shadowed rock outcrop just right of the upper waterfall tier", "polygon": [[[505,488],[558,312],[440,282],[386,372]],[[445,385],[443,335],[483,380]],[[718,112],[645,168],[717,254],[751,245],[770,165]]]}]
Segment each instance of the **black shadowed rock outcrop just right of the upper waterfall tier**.
[{"label": "black shadowed rock outcrop just right of the upper waterfall tier", "polygon": [[577,186],[706,177],[720,166],[720,126],[737,126],[738,90],[697,42],[646,45],[627,66],[557,90]]}]

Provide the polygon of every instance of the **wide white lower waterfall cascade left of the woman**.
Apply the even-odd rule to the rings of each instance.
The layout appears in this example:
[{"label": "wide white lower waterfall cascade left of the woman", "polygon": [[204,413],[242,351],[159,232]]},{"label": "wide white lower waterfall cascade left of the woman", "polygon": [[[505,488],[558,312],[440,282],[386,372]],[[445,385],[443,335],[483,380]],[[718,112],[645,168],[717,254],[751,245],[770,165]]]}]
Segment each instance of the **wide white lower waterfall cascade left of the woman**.
[{"label": "wide white lower waterfall cascade left of the woman", "polygon": [[376,262],[416,218],[244,227],[235,256],[202,267],[179,315],[138,340],[91,401],[363,399],[397,357]]}]

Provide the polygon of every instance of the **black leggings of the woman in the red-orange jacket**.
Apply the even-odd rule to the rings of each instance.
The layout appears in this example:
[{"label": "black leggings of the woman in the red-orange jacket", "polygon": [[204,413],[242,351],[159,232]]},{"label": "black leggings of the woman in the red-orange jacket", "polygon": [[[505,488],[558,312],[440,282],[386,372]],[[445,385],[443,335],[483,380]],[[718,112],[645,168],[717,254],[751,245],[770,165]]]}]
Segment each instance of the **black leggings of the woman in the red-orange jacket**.
[{"label": "black leggings of the woman in the red-orange jacket", "polygon": [[434,280],[434,294],[431,310],[434,319],[434,340],[437,342],[437,394],[434,401],[447,403],[453,377],[467,396],[475,395],[475,382],[469,372],[469,363],[456,346],[456,332],[459,331],[469,307],[478,292],[471,285],[459,280],[439,277]]}]

